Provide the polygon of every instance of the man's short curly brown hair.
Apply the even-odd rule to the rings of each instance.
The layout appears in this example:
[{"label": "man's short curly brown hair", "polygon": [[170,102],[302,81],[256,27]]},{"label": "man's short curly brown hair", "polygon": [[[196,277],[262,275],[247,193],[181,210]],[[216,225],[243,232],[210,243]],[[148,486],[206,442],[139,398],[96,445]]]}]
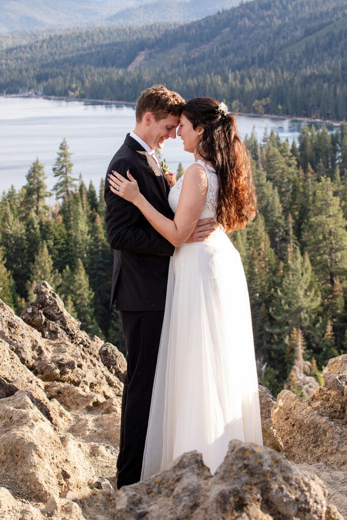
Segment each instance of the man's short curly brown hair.
[{"label": "man's short curly brown hair", "polygon": [[136,102],[136,122],[142,120],[146,112],[152,112],[156,121],[165,119],[169,114],[181,115],[185,100],[174,90],[163,85],[153,85],[144,90]]}]

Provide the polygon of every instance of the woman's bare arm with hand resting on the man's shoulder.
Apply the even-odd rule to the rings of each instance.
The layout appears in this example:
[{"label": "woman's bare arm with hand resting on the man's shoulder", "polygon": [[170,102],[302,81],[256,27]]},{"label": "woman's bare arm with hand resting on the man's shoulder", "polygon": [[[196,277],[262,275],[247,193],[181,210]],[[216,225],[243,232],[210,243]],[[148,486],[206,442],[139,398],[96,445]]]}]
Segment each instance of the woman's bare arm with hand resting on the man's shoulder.
[{"label": "woman's bare arm with hand resting on the man's shoulder", "polygon": [[113,193],[135,204],[153,228],[175,247],[185,243],[194,231],[205,203],[208,180],[204,168],[197,163],[187,168],[174,220],[159,213],[139,192],[137,182],[129,172],[127,176],[129,180],[114,172],[109,178]]}]

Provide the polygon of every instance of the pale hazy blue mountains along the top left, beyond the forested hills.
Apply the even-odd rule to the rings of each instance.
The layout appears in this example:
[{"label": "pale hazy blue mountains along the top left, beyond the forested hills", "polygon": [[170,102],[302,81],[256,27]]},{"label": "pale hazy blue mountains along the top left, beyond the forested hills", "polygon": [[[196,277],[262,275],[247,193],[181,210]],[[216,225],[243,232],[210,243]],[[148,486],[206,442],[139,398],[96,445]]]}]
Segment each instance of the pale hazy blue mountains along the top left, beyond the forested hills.
[{"label": "pale hazy blue mountains along the top left, beyond the forested hills", "polygon": [[184,22],[232,7],[239,1],[0,0],[0,34],[110,22],[119,25],[142,25],[153,21]]}]

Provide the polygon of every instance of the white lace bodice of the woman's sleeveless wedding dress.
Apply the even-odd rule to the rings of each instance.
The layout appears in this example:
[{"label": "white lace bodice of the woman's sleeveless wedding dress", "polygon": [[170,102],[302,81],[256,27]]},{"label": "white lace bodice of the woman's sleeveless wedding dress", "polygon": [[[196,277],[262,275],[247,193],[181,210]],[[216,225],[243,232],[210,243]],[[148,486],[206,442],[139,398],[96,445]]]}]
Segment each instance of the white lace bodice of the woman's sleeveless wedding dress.
[{"label": "white lace bodice of the woman's sleeveless wedding dress", "polygon": [[[200,159],[197,162],[201,164],[201,166],[204,168],[209,183],[209,187],[206,193],[205,204],[203,206],[200,218],[213,218],[215,216],[217,207],[217,197],[219,188],[218,177],[212,166],[208,166],[203,161],[200,161]],[[179,177],[179,179],[173,185],[169,193],[169,204],[174,213],[176,213],[177,210],[178,199],[182,190],[183,177],[184,174],[182,175],[182,177]]]}]

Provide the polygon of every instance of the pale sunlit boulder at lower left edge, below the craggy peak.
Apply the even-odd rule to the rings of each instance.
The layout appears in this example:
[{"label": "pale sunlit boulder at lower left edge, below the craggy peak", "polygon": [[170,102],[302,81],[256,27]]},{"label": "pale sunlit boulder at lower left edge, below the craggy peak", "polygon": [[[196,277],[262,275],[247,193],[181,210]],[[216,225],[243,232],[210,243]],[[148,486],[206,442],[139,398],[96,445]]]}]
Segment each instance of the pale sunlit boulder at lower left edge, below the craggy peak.
[{"label": "pale sunlit boulder at lower left edge, below the craggy peak", "polygon": [[21,391],[0,400],[0,467],[37,500],[78,491],[95,478],[82,444],[58,435]]}]

